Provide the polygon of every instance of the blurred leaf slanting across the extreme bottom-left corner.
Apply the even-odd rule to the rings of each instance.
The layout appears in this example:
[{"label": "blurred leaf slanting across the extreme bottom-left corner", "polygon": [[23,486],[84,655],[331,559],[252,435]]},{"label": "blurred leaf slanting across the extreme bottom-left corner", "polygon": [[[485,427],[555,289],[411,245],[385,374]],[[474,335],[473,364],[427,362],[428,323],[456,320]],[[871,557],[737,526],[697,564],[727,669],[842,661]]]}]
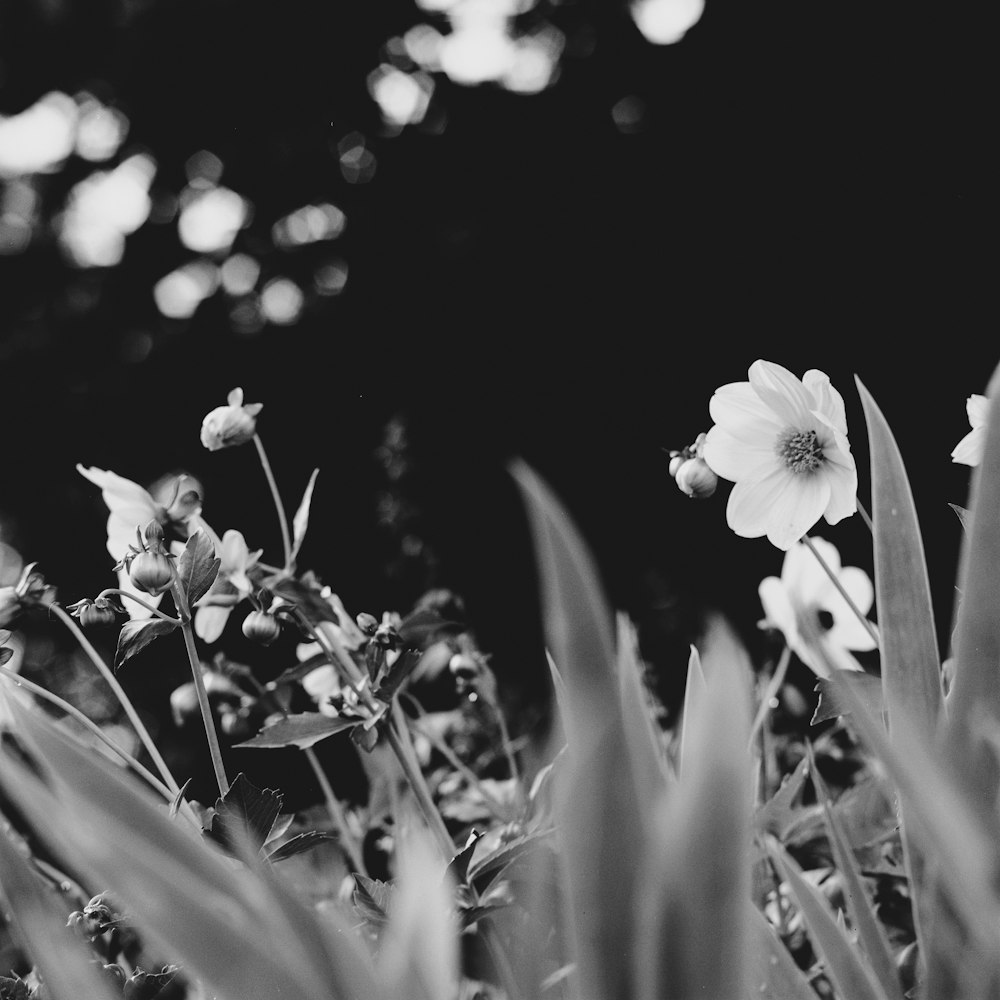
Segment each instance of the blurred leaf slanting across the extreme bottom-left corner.
[{"label": "blurred leaf slanting across the extreme bottom-left corner", "polygon": [[90,962],[83,943],[66,926],[66,911],[2,829],[0,890],[17,937],[41,969],[51,1000],[111,1000],[111,989]]}]

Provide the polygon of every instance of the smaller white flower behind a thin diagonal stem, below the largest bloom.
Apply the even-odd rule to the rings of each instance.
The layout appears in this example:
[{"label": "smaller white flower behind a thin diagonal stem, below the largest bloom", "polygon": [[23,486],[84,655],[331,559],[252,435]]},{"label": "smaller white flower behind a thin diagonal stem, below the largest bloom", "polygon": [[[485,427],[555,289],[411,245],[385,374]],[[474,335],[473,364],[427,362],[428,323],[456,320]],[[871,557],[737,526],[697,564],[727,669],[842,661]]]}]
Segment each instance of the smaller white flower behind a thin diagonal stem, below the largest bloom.
[{"label": "smaller white flower behind a thin diagonal stem, below the largest bloom", "polygon": [[[868,574],[857,566],[842,567],[840,553],[830,542],[822,538],[811,541],[858,611],[867,615],[875,600],[875,589]],[[819,624],[831,658],[849,669],[858,670],[860,666],[852,656],[845,655],[847,650],[863,652],[875,648],[872,634],[851,610],[805,542],[796,542],[785,553],[781,579],[769,576],[762,580],[758,593],[765,615],[761,625],[780,629],[792,652],[820,677],[825,677],[828,670],[801,634],[799,623],[803,617],[810,616]]]}]

